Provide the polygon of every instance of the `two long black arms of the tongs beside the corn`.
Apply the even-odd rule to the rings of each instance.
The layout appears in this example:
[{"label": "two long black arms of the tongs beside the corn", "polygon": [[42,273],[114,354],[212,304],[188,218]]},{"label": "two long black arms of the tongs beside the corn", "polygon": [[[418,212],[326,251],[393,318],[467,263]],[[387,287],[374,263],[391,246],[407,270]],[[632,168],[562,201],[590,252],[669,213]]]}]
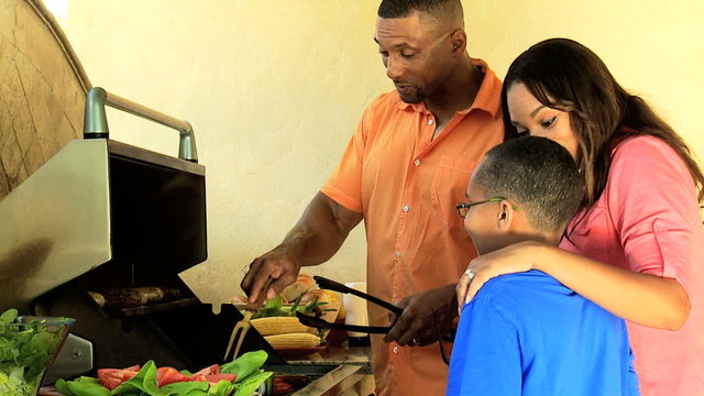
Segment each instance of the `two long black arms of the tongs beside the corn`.
[{"label": "two long black arms of the tongs beside the corn", "polygon": [[[343,284],[337,283],[334,280],[330,280],[322,276],[314,276],[312,278],[316,280],[318,286],[322,289],[340,292],[340,293],[351,294],[358,297],[362,297],[365,300],[376,304],[380,307],[386,308],[389,311],[399,316],[404,312],[402,308],[398,308],[393,304],[386,302],[374,296],[370,296],[366,293],[362,293],[351,287],[346,287]],[[300,321],[301,323],[309,327],[314,327],[316,329],[324,329],[324,330],[339,329],[339,330],[356,331],[356,332],[365,332],[365,333],[374,333],[374,334],[386,334],[392,330],[391,327],[385,327],[385,326],[356,326],[356,324],[330,323],[329,321],[322,320],[320,318],[311,317],[301,312],[296,312],[296,317],[298,318],[298,321]]]}]

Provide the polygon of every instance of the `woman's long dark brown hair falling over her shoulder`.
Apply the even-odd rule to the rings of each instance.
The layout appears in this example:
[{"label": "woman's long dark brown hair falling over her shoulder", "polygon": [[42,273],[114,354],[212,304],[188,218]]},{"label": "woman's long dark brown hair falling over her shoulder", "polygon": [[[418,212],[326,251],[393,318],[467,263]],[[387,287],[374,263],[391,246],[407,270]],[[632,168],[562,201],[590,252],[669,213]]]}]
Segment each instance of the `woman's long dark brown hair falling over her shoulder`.
[{"label": "woman's long dark brown hair falling over her shoulder", "polygon": [[520,54],[508,68],[502,90],[506,140],[518,135],[510,123],[506,92],[522,82],[542,105],[570,112],[580,145],[580,169],[585,184],[583,207],[604,191],[615,140],[652,135],[669,144],[694,178],[698,201],[704,201],[704,175],[682,138],[641,98],[618,85],[606,65],[584,45],[550,38]]}]

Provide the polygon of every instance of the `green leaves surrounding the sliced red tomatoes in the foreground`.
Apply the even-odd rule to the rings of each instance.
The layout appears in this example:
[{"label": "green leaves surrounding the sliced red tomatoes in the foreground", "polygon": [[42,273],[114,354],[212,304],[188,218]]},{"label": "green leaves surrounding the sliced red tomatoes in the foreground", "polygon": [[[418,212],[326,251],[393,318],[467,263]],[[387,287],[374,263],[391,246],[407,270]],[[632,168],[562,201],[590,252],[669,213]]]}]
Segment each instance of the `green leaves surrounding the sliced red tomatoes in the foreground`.
[{"label": "green leaves surrounding the sliced red tomatoes in the foreground", "polygon": [[[179,382],[156,385],[156,364],[146,362],[140,372],[114,388],[112,392],[103,387],[98,378],[79,377],[74,381],[56,381],[56,391],[66,396],[250,396],[264,383],[272,372],[260,370],[266,362],[264,351],[248,352],[234,361],[223,364],[221,373],[237,374],[234,383],[220,381],[217,384],[207,382]],[[4,394],[1,394],[4,395]]]}]

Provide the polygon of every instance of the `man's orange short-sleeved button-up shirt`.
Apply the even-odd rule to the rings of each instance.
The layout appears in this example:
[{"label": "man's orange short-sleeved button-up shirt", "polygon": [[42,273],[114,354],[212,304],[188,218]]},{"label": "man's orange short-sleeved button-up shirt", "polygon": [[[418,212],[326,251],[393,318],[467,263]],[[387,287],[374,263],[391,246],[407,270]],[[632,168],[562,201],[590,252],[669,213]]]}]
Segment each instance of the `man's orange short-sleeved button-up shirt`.
[{"label": "man's orange short-sleeved button-up shirt", "polygon": [[[362,212],[367,242],[367,292],[387,301],[457,283],[476,250],[455,205],[470,176],[503,140],[502,84],[482,61],[474,103],[458,111],[432,140],[436,119],[424,103],[397,91],[376,98],[321,191]],[[370,324],[387,326],[388,311],[369,305]],[[376,392],[443,395],[448,366],[438,344],[399,346],[372,337]]]}]

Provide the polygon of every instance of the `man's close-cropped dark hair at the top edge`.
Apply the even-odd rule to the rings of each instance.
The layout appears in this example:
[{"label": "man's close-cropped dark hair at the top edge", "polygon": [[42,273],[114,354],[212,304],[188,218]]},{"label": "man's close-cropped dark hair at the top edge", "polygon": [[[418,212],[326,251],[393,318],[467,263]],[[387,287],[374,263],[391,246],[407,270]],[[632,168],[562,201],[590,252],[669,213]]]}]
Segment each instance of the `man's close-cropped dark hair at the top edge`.
[{"label": "man's close-cropped dark hair at the top edge", "polygon": [[439,21],[464,24],[464,14],[460,0],[383,0],[378,7],[378,16],[385,19],[406,18],[415,11],[422,12]]}]

